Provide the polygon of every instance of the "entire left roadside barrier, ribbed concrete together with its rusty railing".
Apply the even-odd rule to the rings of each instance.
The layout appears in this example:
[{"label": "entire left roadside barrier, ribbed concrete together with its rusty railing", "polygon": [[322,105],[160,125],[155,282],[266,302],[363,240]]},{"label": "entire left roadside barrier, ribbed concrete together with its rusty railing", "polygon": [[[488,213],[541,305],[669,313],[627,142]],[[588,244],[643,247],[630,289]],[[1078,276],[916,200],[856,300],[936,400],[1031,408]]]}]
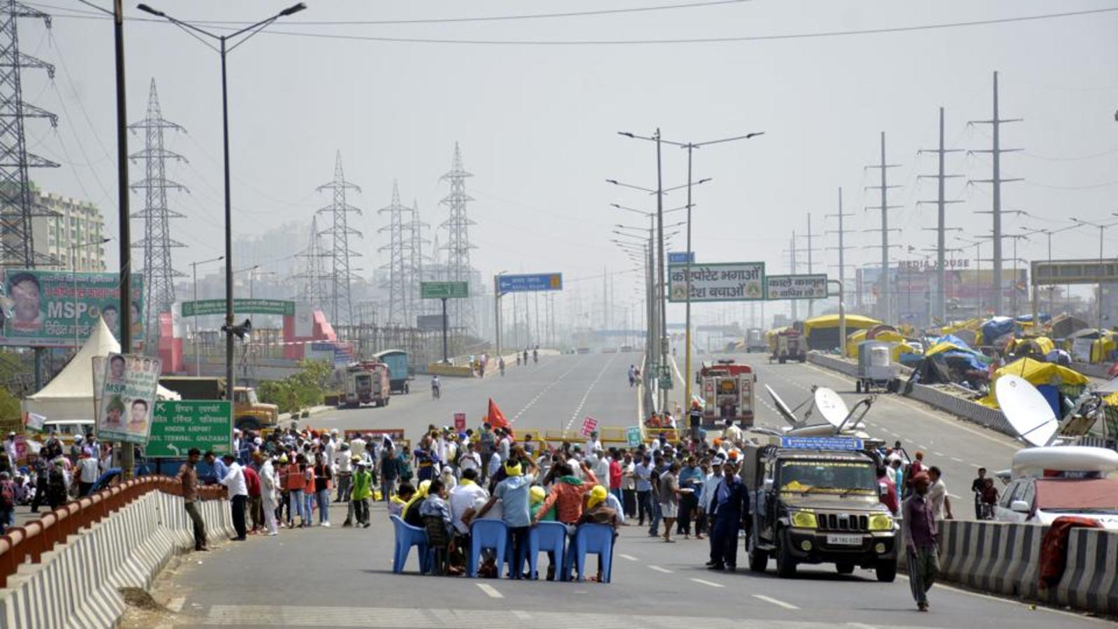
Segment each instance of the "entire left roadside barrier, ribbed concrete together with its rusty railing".
[{"label": "entire left roadside barrier, ribbed concrete together with its rusty railing", "polygon": [[[225,488],[199,488],[210,538],[234,535]],[[182,485],[142,477],[70,501],[0,536],[0,629],[115,627],[120,588],[146,589],[193,547]]]}]

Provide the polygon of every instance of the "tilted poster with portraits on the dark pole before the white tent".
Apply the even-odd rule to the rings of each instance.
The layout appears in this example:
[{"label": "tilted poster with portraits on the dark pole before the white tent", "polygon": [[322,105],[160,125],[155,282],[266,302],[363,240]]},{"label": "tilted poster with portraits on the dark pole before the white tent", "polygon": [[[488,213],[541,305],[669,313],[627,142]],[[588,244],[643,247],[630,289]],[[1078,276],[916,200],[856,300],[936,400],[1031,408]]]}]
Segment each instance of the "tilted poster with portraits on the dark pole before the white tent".
[{"label": "tilted poster with portraits on the dark pole before the white tent", "polygon": [[159,386],[159,358],[110,354],[102,368],[97,439],[146,443]]}]

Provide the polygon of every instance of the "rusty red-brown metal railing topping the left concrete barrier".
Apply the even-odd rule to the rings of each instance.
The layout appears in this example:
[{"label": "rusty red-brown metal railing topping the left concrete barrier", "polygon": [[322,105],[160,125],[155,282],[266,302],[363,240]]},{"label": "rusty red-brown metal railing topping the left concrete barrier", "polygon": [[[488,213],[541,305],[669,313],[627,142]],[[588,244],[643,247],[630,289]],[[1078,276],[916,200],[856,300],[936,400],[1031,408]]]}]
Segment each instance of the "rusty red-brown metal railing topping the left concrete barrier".
[{"label": "rusty red-brown metal railing topping the left concrete barrier", "polygon": [[[22,526],[8,528],[4,535],[0,535],[0,588],[8,586],[8,578],[16,574],[28,557],[31,563],[39,563],[44,553],[65,543],[68,536],[101,522],[150,491],[182,496],[182,484],[165,476],[141,477],[72,500]],[[201,499],[224,498],[225,495],[224,487],[198,488]]]}]

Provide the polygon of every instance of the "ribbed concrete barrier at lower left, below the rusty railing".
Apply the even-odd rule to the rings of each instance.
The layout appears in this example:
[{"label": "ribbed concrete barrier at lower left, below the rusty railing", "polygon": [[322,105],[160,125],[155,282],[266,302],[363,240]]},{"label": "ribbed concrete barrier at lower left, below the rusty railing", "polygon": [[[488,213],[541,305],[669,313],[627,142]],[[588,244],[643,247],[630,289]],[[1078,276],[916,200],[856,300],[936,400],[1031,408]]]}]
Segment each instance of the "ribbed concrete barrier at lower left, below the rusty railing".
[{"label": "ribbed concrete barrier at lower left, below the rusty railing", "polygon": [[[199,503],[211,539],[234,535],[227,500]],[[23,563],[0,590],[0,629],[115,627],[119,588],[148,589],[171,557],[193,547],[183,500],[149,491]]]}]

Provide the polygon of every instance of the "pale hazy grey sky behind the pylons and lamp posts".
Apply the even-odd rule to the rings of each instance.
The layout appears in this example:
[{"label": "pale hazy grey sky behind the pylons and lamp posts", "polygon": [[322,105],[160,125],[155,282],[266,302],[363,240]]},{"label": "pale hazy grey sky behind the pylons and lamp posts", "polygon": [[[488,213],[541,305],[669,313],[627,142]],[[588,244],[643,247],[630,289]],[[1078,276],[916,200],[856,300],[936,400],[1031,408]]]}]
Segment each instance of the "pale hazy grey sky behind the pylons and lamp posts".
[{"label": "pale hazy grey sky behind the pylons and lamp posts", "polygon": [[[477,245],[473,261],[483,273],[562,271],[578,275],[628,269],[613,244],[615,223],[646,224],[610,203],[654,207],[654,198],[610,186],[607,178],[655,185],[651,143],[617,131],[705,141],[765,131],[749,141],[695,153],[695,177],[713,181],[695,188],[694,250],[702,261],[764,260],[785,271],[792,229],[834,229],[824,214],[845,191],[850,227],[880,225],[878,203],[863,187],[877,182],[864,166],[879,159],[885,131],[896,242],[930,246],[937,109],[947,109],[947,143],[956,149],[989,148],[989,128],[966,126],[992,114],[992,73],[1001,72],[1004,176],[1024,181],[1004,187],[1004,207],[1031,216],[1007,216],[1006,232],[1069,224],[1069,217],[1118,220],[1118,11],[1080,17],[907,32],[652,45],[485,45],[376,41],[300,37],[282,32],[347,37],[468,40],[587,41],[769,36],[938,25],[1118,8],[1095,1],[885,2],[855,0],[754,0],[674,10],[551,19],[479,22],[311,25],[309,21],[413,20],[652,7],[691,0],[432,1],[364,2],[307,0],[307,10],[269,28],[229,56],[233,198],[236,235],[258,234],[292,219],[310,220],[329,203],[315,187],[330,180],[340,150],[347,177],[363,193],[351,203],[366,210],[357,243],[382,263],[377,228],[387,216],[392,180],[406,203],[417,199],[433,224],[446,216],[438,200],[447,193],[439,176],[461,142],[476,199],[470,216]],[[102,0],[103,4],[108,4]],[[154,7],[190,20],[256,20],[286,1],[152,0]],[[57,66],[54,83],[25,71],[27,100],[55,111],[57,131],[29,121],[34,151],[63,165],[32,177],[50,190],[89,198],[115,210],[115,110],[112,22],[80,19],[78,2],[34,2],[55,15],[49,35],[41,22],[21,20],[22,49]],[[134,8],[130,17],[144,17]],[[302,24],[300,24],[302,22]],[[215,25],[217,26],[217,25]],[[228,26],[228,25],[226,25]],[[190,216],[173,224],[189,248],[176,264],[221,251],[221,135],[218,56],[173,26],[126,24],[129,119],[143,118],[152,77],[164,116],[187,135],[168,137],[168,148],[190,160],[169,176],[190,195],[172,207]],[[130,150],[140,150],[133,137]],[[664,184],[684,182],[685,153],[665,148]],[[989,177],[986,154],[955,153],[949,171],[949,223],[968,235],[989,231],[988,186],[967,178]],[[132,179],[142,177],[133,167]],[[682,205],[682,193],[665,207]],[[133,195],[133,210],[142,197]],[[676,213],[676,216],[679,213]],[[636,218],[634,220],[633,218]],[[134,227],[139,229],[139,225]],[[1107,255],[1118,255],[1118,231]],[[445,242],[445,236],[440,236]],[[827,246],[835,236],[826,234]],[[880,259],[878,234],[853,233],[852,264]],[[1053,238],[1053,255],[1097,255],[1098,232],[1077,229]],[[1043,255],[1045,241],[1022,242],[1021,257]],[[805,243],[806,245],[806,243]],[[115,244],[111,245],[114,247]],[[670,248],[682,250],[682,244]],[[973,256],[973,247],[967,255]],[[1011,255],[1006,243],[1005,255]],[[984,247],[988,255],[989,247]],[[277,251],[276,257],[293,252]],[[897,255],[901,255],[898,251]],[[907,254],[906,254],[907,255]],[[923,255],[922,253],[920,255]],[[816,257],[835,263],[833,251]],[[266,261],[254,261],[266,262]],[[988,264],[988,263],[985,263]],[[985,265],[984,264],[984,265]],[[115,265],[115,255],[110,266]],[[241,266],[235,261],[235,266]],[[371,266],[368,262],[363,265]],[[626,283],[625,293],[633,284]],[[623,285],[617,284],[618,300]]]}]

